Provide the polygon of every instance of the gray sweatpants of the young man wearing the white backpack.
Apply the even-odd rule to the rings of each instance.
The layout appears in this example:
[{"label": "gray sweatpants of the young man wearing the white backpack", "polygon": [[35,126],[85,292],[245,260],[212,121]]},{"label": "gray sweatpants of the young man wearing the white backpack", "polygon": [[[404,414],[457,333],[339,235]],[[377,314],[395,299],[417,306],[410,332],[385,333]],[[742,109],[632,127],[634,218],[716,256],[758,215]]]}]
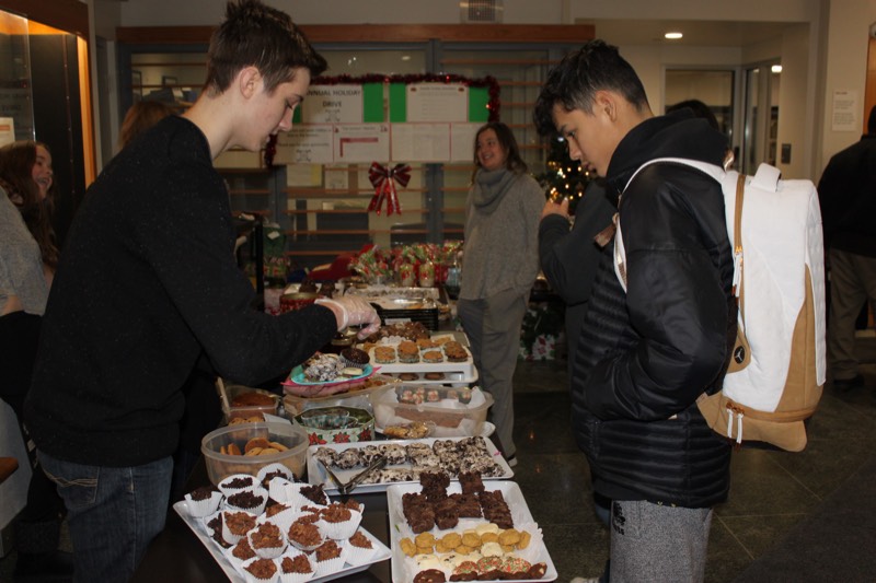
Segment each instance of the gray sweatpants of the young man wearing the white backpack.
[{"label": "gray sweatpants of the young man wearing the white backpack", "polygon": [[645,502],[611,505],[611,583],[701,583],[712,509]]}]

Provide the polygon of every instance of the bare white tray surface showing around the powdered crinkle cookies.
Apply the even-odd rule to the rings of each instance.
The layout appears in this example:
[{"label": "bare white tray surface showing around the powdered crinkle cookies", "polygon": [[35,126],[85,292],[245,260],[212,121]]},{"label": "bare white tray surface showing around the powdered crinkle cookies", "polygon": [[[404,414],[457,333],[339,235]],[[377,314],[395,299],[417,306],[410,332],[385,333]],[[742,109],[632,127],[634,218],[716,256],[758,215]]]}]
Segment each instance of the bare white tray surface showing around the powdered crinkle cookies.
[{"label": "bare white tray surface showing around the powdered crinkle cookies", "polygon": [[[311,445],[308,447],[308,481],[312,485],[320,483],[322,485],[323,490],[327,494],[336,494],[337,493],[337,486],[335,482],[332,481],[332,478],[328,477],[328,474],[325,471],[325,468],[322,464],[316,462],[313,457],[313,454],[320,447],[330,447],[336,452],[343,452],[349,447],[364,447],[365,445],[382,445],[389,443],[395,443],[399,445],[407,445],[410,443],[426,443],[430,447],[436,441],[461,441],[468,440],[469,438],[425,438],[422,440],[381,440],[377,442],[358,442],[358,443],[326,443],[325,445]],[[489,438],[484,438],[484,442],[486,443],[486,450],[489,455],[493,456],[493,459],[499,465],[499,467],[504,470],[502,476],[496,477],[484,477],[484,480],[507,480],[514,477],[514,470],[502,456],[499,451],[496,448],[496,445],[489,440]],[[388,468],[411,468],[413,467],[411,463],[406,463],[403,465],[395,465],[395,466],[387,466]],[[362,471],[365,468],[361,466],[357,466],[351,469],[341,469],[336,467],[332,467],[332,471],[335,473],[335,476],[342,481],[347,481],[353,478],[356,474]],[[456,477],[450,478],[452,481],[456,481]],[[368,492],[384,492],[387,488],[391,485],[406,485],[412,483],[418,487],[419,481],[394,481],[394,482],[387,482],[387,483],[362,483],[357,486],[350,495],[354,498],[357,493],[368,493]]]}]

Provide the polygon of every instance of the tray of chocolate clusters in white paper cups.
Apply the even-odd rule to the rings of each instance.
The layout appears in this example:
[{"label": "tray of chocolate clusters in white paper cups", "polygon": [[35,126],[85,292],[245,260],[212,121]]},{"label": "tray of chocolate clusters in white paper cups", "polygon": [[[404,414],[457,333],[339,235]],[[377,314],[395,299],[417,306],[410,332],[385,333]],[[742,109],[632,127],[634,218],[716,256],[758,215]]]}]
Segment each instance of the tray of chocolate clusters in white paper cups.
[{"label": "tray of chocolate clusters in white paper cups", "polygon": [[232,475],[185,495],[174,511],[233,582],[331,581],[390,558],[359,523],[364,505],[332,502],[288,468]]}]

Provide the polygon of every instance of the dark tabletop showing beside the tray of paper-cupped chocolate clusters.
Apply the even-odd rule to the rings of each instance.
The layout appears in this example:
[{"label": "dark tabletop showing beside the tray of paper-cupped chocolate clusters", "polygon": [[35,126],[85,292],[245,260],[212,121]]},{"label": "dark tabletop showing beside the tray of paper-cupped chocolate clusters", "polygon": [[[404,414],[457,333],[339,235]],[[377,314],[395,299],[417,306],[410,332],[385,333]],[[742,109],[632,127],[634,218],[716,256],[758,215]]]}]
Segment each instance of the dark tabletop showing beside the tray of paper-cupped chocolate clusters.
[{"label": "dark tabletop showing beside the tray of paper-cupped chocolate clusters", "polygon": [[[192,491],[198,486],[209,482],[207,479],[207,468],[201,457],[195,466],[189,478]],[[350,498],[365,504],[361,526],[381,543],[390,546],[389,543],[389,512],[387,508],[387,494],[365,493],[356,494],[354,491]],[[336,497],[333,497],[333,500]],[[171,583],[171,582],[216,582],[226,581],[228,578],[214,556],[192,529],[183,522],[176,511],[168,512],[168,523],[164,530],[152,540],[146,557],[140,562],[134,573],[131,582],[135,583]],[[339,578],[337,581],[350,583],[389,583],[392,581],[390,574],[390,561],[381,561],[372,564],[367,571],[353,573]]]}]

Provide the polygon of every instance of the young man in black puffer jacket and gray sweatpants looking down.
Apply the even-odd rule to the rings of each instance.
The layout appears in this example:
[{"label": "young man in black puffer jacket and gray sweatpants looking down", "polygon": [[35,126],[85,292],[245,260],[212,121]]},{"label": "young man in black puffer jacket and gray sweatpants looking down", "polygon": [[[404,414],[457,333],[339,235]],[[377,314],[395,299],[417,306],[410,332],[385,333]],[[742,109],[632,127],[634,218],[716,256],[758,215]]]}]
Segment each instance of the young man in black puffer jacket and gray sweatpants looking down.
[{"label": "young man in black puffer jacket and gray sweatpants looking down", "polygon": [[712,508],[729,491],[730,446],[695,404],[731,348],[724,196],[683,164],[636,171],[656,158],[722,166],[726,137],[690,110],[654,117],[633,68],[601,40],[551,71],[535,121],[623,194],[625,264],[615,273],[601,254],[572,374],[576,438],[593,490],[612,500],[611,580],[702,581]]}]

